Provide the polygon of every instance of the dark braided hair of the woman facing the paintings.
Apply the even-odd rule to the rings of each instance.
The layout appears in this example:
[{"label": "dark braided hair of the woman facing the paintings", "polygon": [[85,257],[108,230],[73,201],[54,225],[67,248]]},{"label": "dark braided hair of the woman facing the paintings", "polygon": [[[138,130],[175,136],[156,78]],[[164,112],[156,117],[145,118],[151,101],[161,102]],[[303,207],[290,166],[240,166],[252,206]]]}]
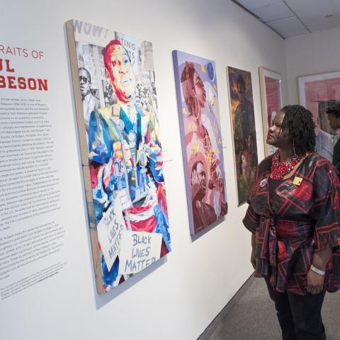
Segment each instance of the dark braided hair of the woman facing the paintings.
[{"label": "dark braided hair of the woman facing the paintings", "polygon": [[281,130],[292,137],[295,154],[304,155],[315,151],[315,124],[312,113],[300,105],[284,106]]}]

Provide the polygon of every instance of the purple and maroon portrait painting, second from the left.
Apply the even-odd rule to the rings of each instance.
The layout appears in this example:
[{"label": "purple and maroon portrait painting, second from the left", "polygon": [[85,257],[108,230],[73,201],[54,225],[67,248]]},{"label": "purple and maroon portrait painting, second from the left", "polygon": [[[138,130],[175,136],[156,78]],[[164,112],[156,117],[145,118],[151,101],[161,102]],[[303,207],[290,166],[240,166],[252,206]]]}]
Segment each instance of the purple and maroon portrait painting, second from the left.
[{"label": "purple and maroon portrait painting, second from the left", "polygon": [[191,234],[227,214],[215,62],[173,51]]}]

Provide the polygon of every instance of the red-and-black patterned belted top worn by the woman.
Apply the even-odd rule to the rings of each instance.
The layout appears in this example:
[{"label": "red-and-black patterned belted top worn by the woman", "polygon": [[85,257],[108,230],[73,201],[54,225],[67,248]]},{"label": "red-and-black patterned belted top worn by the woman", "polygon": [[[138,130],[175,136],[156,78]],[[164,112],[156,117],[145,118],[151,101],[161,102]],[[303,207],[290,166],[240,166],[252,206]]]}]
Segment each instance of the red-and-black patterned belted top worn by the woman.
[{"label": "red-and-black patterned belted top worn by the woman", "polygon": [[[259,164],[249,190],[244,225],[255,233],[255,276],[267,276],[278,292],[306,295],[306,275],[314,251],[328,247],[325,289],[340,288],[340,183],[334,166],[319,156],[307,157],[291,179],[274,190],[268,182],[271,157]],[[302,179],[293,185],[295,177]]]}]

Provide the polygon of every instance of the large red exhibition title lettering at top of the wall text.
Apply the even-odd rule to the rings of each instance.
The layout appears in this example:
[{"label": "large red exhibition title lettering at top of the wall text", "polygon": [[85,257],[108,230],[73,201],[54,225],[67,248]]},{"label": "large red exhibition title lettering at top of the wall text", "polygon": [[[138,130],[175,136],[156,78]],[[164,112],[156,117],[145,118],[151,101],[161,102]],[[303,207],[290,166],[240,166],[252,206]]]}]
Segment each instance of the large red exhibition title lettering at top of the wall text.
[{"label": "large red exhibition title lettering at top of the wall text", "polygon": [[[2,57],[5,55],[6,57]],[[16,70],[12,65],[12,61],[8,55],[17,57],[32,57],[36,60],[41,60],[44,56],[42,51],[27,50],[21,47],[9,47],[0,45],[0,89],[19,89],[19,90],[38,90],[47,91],[47,79],[36,79],[33,77],[16,77]],[[4,75],[3,73],[7,73]]]}]

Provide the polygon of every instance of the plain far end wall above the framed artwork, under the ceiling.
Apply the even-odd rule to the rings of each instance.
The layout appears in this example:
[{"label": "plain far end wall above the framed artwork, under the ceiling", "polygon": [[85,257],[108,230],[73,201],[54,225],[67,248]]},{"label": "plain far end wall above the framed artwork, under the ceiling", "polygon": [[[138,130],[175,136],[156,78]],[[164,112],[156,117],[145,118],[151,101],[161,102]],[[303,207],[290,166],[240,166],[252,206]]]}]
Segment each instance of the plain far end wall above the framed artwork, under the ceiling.
[{"label": "plain far end wall above the framed artwork, under the ceiling", "polygon": [[298,35],[285,40],[288,98],[298,104],[297,77],[340,69],[340,28]]}]

